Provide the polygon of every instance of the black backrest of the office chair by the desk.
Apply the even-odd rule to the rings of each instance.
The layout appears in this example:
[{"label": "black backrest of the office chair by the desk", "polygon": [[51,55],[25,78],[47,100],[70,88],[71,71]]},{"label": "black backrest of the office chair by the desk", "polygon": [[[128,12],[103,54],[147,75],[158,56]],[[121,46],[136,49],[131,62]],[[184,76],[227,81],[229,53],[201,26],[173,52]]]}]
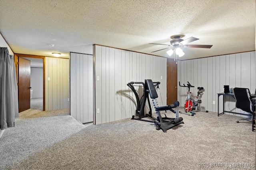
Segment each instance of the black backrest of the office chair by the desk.
[{"label": "black backrest of the office chair by the desk", "polygon": [[252,100],[250,90],[248,88],[234,88],[234,96],[236,98],[236,107],[243,111],[253,114]]}]

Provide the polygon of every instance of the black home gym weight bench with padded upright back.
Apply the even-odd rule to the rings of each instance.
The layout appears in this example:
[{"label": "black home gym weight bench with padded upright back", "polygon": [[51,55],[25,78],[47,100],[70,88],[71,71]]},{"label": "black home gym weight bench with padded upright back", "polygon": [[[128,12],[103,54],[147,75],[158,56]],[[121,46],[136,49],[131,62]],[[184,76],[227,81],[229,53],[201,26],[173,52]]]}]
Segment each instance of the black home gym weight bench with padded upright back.
[{"label": "black home gym weight bench with padded upright back", "polygon": [[[139,98],[139,95],[134,88],[134,84],[142,84],[143,85],[143,95],[141,98]],[[178,112],[179,102],[178,101],[175,101],[173,104],[170,104],[168,106],[160,106],[160,107],[158,106],[158,104],[156,102],[156,98],[158,98],[156,88],[159,88],[159,84],[160,84],[160,82],[152,82],[152,80],[147,79],[147,80],[145,80],[145,83],[144,82],[130,82],[127,84],[127,86],[132,90],[132,92],[134,92],[135,97],[136,97],[136,102],[137,102],[135,115],[138,115],[138,117],[135,117],[135,115],[133,115],[132,119],[152,122],[156,125],[157,130],[162,129],[163,132],[166,132],[168,129],[171,129],[172,127],[180,125],[184,122],[183,122],[182,117],[178,117],[178,114],[179,114],[179,112]],[[149,95],[150,95],[150,98],[152,99],[153,106],[156,110],[156,115],[157,115],[156,118],[154,116],[152,116],[152,109],[151,109],[151,105],[150,105],[150,101],[149,101]],[[148,112],[148,114],[145,115],[144,108],[146,105],[146,100],[148,100],[149,112]],[[175,110],[173,110],[173,108],[175,108]],[[176,117],[175,118],[167,117],[165,113],[164,113],[165,117],[162,117],[160,111],[167,111],[167,110],[170,110],[173,113],[175,113]],[[145,119],[146,117],[150,117],[152,120]]]}]

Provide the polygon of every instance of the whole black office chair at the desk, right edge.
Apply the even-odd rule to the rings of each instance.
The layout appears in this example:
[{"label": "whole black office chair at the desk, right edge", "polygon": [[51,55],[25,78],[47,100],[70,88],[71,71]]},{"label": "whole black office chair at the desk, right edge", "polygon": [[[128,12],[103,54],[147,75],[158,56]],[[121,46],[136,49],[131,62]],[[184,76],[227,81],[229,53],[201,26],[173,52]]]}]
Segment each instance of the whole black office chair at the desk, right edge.
[{"label": "whole black office chair at the desk, right edge", "polygon": [[254,106],[251,100],[250,90],[248,88],[234,88],[234,96],[236,98],[236,107],[243,111],[249,112],[252,114],[252,118],[250,119],[239,119],[236,121],[237,123],[240,120],[246,120],[252,122],[252,131],[254,131],[255,127],[255,113],[254,113]]}]

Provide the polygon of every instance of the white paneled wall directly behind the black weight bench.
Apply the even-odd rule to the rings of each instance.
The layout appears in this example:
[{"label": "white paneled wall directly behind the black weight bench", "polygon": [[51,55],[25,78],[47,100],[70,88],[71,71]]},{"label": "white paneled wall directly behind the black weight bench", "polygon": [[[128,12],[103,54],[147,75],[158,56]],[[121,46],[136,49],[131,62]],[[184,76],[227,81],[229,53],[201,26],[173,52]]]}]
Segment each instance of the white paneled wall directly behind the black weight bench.
[{"label": "white paneled wall directly behind the black weight bench", "polygon": [[[166,105],[166,58],[100,45],[94,46],[94,57],[95,124],[134,115],[136,105],[130,97],[135,99],[135,96],[128,88],[128,82],[144,82],[145,79],[161,82],[158,105]],[[142,87],[136,89],[141,95]],[[97,109],[100,113],[97,113]]]}]

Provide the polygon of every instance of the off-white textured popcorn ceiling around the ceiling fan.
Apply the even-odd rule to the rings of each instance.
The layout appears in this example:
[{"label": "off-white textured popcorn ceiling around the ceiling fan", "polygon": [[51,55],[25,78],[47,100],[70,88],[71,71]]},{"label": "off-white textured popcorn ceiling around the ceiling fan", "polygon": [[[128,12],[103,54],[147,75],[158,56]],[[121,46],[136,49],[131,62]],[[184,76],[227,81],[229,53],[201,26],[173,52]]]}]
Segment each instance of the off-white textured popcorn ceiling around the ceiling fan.
[{"label": "off-white textured popcorn ceiling around the ceiling fan", "polygon": [[[0,0],[0,32],[14,53],[92,54],[93,44],[168,57],[172,35],[196,37],[179,59],[255,50],[255,0]],[[54,44],[50,47],[48,44]],[[173,56],[171,56],[173,58]]]}]

